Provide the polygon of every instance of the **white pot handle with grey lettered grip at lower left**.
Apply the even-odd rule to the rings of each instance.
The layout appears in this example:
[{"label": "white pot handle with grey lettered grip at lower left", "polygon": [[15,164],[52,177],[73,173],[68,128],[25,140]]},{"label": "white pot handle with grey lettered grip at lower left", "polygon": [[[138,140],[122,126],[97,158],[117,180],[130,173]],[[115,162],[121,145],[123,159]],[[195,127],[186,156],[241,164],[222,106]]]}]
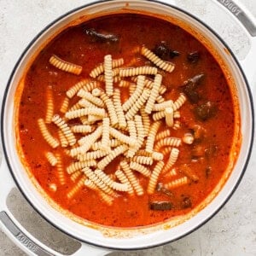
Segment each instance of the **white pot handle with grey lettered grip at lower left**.
[{"label": "white pot handle with grey lettered grip at lower left", "polygon": [[[27,255],[32,256],[63,256],[45,246],[37,238],[29,234],[20,223],[15,219],[6,205],[6,200],[11,189],[15,188],[15,182],[9,172],[9,167],[5,160],[2,160],[0,166],[0,229],[9,236],[9,238],[22,249]],[[107,249],[92,247],[88,244],[81,243],[79,250],[72,256],[102,256],[110,253]]]}]

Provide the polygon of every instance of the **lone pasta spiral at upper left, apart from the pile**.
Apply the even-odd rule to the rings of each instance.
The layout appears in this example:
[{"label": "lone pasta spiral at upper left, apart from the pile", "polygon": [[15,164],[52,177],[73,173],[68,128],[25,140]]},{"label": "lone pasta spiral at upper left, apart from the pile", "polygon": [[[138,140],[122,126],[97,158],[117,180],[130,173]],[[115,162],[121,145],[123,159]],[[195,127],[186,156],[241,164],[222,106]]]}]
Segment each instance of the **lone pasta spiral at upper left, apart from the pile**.
[{"label": "lone pasta spiral at upper left, apart from the pile", "polygon": [[59,58],[56,55],[52,55],[49,58],[49,63],[53,65],[56,68],[61,69],[62,71],[68,72],[68,73],[74,73],[76,75],[79,75],[82,72],[83,67],[73,64],[68,61],[63,61],[61,58]]}]

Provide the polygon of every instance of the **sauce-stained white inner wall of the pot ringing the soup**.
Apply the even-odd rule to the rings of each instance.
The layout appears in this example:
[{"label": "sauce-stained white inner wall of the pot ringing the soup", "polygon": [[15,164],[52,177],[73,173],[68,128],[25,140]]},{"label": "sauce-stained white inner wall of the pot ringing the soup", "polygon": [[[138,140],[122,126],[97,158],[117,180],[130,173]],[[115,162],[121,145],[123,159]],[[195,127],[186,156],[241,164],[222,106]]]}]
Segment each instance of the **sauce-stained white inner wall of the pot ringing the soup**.
[{"label": "sauce-stained white inner wall of the pot ringing the soup", "polygon": [[[24,82],[24,73],[26,73],[27,67],[37,55],[38,50],[43,49],[51,38],[54,38],[56,34],[67,26],[80,23],[91,17],[119,13],[120,11],[159,15],[177,26],[181,26],[184,30],[194,35],[195,38],[200,39],[201,43],[218,59],[219,65],[223,67],[225,76],[229,79],[236,106],[237,126],[232,148],[233,155],[230,154],[230,166],[218,186],[201,205],[189,212],[189,214],[173,218],[164,224],[146,226],[139,229],[119,229],[91,224],[81,218],[74,217],[70,212],[60,209],[44,194],[44,191],[42,191],[34,178],[29,175],[29,172],[25,171],[26,167],[21,164],[20,152],[16,148],[16,144],[19,142],[16,141],[15,137],[14,119],[16,114],[15,104],[17,103],[14,102],[15,95],[22,90],[22,86],[19,84]],[[44,218],[48,219],[51,224],[60,230],[78,238],[80,241],[86,241],[101,247],[119,249],[153,247],[168,241],[174,241],[195,230],[205,223],[207,219],[211,218],[230,197],[247,165],[247,157],[250,153],[252,142],[252,115],[252,102],[241,68],[234,55],[230,53],[230,49],[207,26],[204,26],[199,20],[184,13],[182,10],[166,4],[148,1],[131,1],[129,3],[110,1],[85,6],[64,15],[59,20],[55,20],[53,24],[45,28],[35,38],[24,54],[21,55],[20,61],[9,80],[4,99],[2,119],[3,148],[10,171],[13,173],[15,181],[26,196],[26,199],[32,203],[32,206]],[[241,148],[237,156],[238,151],[236,149],[240,146],[241,137]]]}]

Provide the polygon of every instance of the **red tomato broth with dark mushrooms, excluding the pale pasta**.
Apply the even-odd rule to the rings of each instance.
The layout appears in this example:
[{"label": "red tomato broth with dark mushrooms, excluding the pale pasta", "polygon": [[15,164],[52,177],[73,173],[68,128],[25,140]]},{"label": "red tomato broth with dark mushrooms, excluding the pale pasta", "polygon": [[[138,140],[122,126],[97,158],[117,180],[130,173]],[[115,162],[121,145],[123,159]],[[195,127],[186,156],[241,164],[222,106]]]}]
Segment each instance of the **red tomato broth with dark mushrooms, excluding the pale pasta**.
[{"label": "red tomato broth with dark mushrooms, excluding the pale pasta", "polygon": [[[165,118],[160,119],[160,128],[156,134],[169,130],[171,137],[181,139],[181,144],[177,147],[177,160],[168,172],[160,173],[154,193],[147,193],[149,177],[133,170],[134,177],[143,188],[143,195],[115,191],[114,195],[108,195],[111,197],[111,204],[108,204],[102,200],[99,192],[101,189],[90,189],[83,184],[68,197],[68,193],[79,181],[84,182],[85,179],[81,177],[88,177],[84,176],[81,168],[81,173],[72,180],[66,170],[77,160],[65,152],[67,148],[51,148],[38,128],[38,119],[45,119],[47,86],[52,89],[54,113],[63,118],[65,114],[60,112],[60,108],[67,97],[67,90],[83,79],[97,80],[90,77],[90,72],[103,63],[105,55],[111,55],[113,60],[123,58],[124,64],[120,68],[155,67],[152,61],[137,51],[143,46],[175,67],[171,73],[158,68],[162,77],[161,84],[166,87],[162,97],[166,101],[172,99],[173,102],[180,95],[186,97],[183,106],[178,109],[180,118],[177,119],[177,126],[170,127],[166,125]],[[52,55],[79,65],[82,72],[79,75],[67,73],[51,65],[49,59]],[[145,76],[154,80],[154,75]],[[131,77],[124,79],[134,84]],[[98,83],[102,89],[105,88],[104,82]],[[119,82],[114,81],[113,88],[120,89],[122,104],[130,97],[129,87],[119,87]],[[69,108],[79,99],[77,95],[69,99]],[[152,126],[154,120],[152,117],[150,119]],[[66,122],[72,126],[78,120],[70,119]],[[100,123],[101,120],[93,124],[93,129],[96,129],[97,122]],[[18,136],[26,165],[40,186],[58,205],[93,223],[137,227],[158,224],[183,215],[198,206],[212,192],[229,165],[234,122],[234,103],[229,84],[218,61],[203,44],[166,20],[147,15],[117,14],[68,27],[38,53],[26,73],[20,98]],[[58,127],[53,122],[46,126],[51,135],[58,138]],[[127,131],[123,133],[129,135]],[[189,134],[192,141],[186,143],[185,134]],[[75,133],[77,140],[86,135]],[[168,151],[166,148],[167,145],[160,147],[158,152]],[[45,153],[49,151],[61,158],[61,166],[49,164],[45,157]],[[166,166],[170,151],[163,156]],[[119,155],[103,170],[116,183],[120,181],[114,173],[120,168],[119,163],[123,159],[124,155]],[[129,160],[127,161],[129,164]],[[151,166],[144,166],[152,173],[155,164],[156,162]],[[91,167],[92,172],[95,169]],[[170,189],[165,186],[183,177],[186,177],[186,183]]]}]

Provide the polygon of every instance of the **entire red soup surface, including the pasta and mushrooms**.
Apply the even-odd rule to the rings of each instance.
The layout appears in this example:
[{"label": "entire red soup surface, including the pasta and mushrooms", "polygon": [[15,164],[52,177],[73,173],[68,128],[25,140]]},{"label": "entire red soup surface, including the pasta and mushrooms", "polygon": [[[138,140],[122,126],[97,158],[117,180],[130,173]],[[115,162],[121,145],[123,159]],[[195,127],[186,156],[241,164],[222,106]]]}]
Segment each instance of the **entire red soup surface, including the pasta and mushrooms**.
[{"label": "entire red soup surface, including the pasta and mushrooms", "polygon": [[211,193],[228,166],[234,106],[197,39],[119,14],[69,27],[38,53],[18,122],[26,165],[50,198],[91,222],[136,227]]}]

